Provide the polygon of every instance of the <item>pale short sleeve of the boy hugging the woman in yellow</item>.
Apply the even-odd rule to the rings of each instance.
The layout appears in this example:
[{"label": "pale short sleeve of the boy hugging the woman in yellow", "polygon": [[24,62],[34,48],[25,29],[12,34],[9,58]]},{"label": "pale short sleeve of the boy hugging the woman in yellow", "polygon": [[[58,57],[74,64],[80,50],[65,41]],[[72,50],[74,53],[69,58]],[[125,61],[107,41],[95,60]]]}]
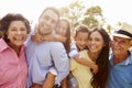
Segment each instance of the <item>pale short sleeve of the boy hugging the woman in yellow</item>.
[{"label": "pale short sleeve of the boy hugging the woman in yellow", "polygon": [[75,56],[78,56],[78,55],[79,55],[79,53],[78,53],[78,51],[77,51],[77,46],[76,46],[75,43],[73,43],[73,44],[70,45],[70,52],[69,52],[68,55],[69,55],[70,58],[74,58]]}]

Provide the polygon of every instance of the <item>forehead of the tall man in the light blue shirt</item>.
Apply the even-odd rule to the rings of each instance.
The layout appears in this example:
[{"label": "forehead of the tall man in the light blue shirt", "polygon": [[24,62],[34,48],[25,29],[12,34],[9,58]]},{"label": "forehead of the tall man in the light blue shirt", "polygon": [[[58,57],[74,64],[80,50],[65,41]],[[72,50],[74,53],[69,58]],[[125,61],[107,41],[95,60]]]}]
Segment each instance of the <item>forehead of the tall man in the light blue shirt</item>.
[{"label": "forehead of the tall man in the light blue shirt", "polygon": [[41,18],[43,18],[43,16],[50,16],[50,18],[52,18],[53,20],[58,20],[58,14],[55,12],[55,11],[53,11],[53,10],[46,10],[42,15],[41,15]]}]

